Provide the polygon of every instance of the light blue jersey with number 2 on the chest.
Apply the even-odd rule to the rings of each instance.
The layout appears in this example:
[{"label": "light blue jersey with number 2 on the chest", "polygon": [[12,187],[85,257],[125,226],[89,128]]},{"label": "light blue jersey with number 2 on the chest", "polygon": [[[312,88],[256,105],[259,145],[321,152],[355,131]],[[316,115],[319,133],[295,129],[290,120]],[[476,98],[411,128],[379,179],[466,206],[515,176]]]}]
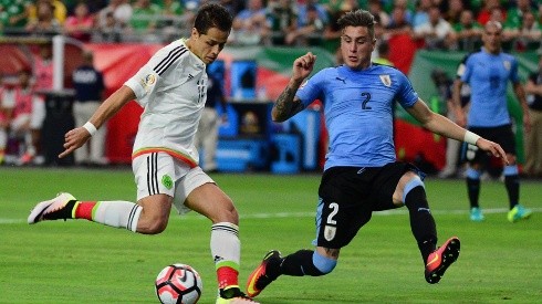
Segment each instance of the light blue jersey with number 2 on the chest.
[{"label": "light blue jersey with number 2 on the chest", "polygon": [[418,95],[408,78],[387,65],[363,71],[347,66],[320,71],[296,96],[305,106],[320,99],[330,134],[324,170],[336,167],[381,167],[396,160],[393,105],[411,107]]}]

